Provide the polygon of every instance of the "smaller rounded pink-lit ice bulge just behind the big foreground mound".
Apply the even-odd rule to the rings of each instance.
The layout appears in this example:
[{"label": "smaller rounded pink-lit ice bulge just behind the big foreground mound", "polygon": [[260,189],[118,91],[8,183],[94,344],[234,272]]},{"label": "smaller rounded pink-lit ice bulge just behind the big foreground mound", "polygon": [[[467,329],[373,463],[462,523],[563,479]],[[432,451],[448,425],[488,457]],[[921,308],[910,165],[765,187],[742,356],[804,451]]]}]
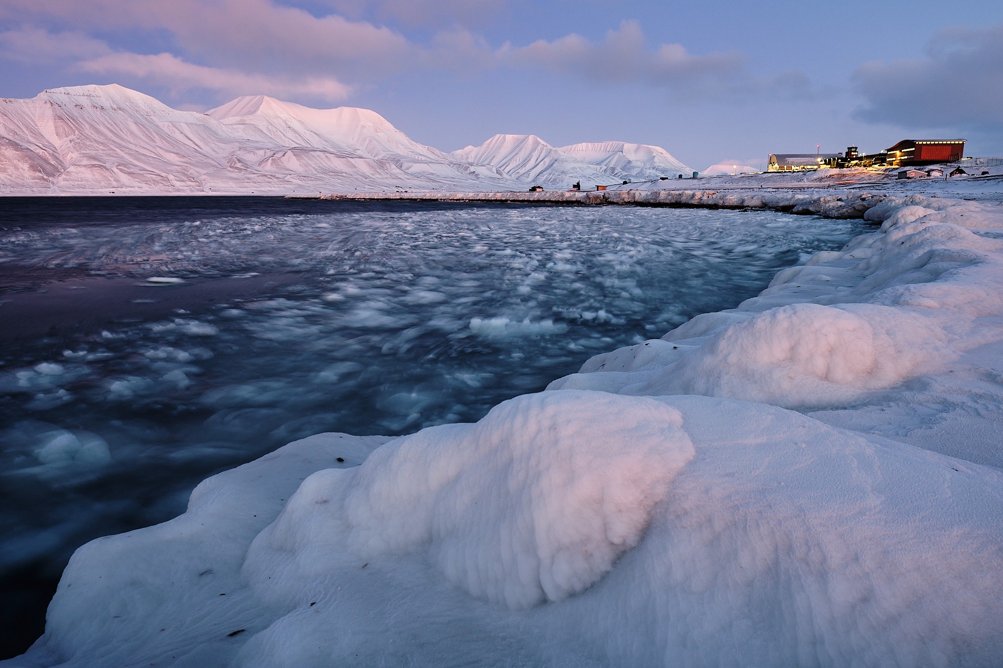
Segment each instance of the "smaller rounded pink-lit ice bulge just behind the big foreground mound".
[{"label": "smaller rounded pink-lit ice bulge just behind the big foreground mound", "polygon": [[949,353],[925,319],[872,304],[793,304],[727,327],[641,394],[702,394],[785,408],[853,400]]}]

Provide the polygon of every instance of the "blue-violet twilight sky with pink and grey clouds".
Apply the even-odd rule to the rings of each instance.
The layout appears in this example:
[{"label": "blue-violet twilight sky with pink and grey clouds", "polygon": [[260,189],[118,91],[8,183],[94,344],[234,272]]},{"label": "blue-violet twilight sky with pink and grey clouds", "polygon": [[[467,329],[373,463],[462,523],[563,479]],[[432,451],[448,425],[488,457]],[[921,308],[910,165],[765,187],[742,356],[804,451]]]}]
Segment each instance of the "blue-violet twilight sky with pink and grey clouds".
[{"label": "blue-violet twilight sky with pink and grey clouds", "polygon": [[0,0],[0,97],[361,106],[454,150],[634,141],[693,169],[966,138],[1003,155],[1003,2]]}]

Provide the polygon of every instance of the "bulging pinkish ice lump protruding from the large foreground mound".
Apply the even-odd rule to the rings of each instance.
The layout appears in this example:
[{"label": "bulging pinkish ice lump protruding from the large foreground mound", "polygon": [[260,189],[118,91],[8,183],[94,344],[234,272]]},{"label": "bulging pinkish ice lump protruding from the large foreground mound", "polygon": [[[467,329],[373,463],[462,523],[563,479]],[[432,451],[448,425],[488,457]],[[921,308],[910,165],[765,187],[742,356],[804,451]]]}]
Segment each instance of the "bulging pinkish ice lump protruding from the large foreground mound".
[{"label": "bulging pinkish ice lump protruding from the large foreground mound", "polygon": [[659,401],[569,391],[423,429],[357,469],[308,477],[255,540],[244,575],[284,600],[292,582],[346,556],[420,552],[474,597],[512,609],[561,601],[640,541],[693,456],[681,423]]}]

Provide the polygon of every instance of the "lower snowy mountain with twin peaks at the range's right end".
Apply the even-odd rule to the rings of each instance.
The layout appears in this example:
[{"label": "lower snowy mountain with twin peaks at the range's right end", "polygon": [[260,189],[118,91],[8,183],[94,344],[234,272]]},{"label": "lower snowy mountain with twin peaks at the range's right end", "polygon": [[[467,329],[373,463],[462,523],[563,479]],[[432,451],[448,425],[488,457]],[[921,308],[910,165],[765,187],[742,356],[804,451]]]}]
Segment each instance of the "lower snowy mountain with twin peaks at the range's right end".
[{"label": "lower snowy mountain with twin peaks at the range's right end", "polygon": [[535,134],[495,134],[479,146],[453,155],[489,164],[526,184],[546,188],[582,188],[689,176],[688,166],[659,146],[624,141],[576,143],[557,148]]}]

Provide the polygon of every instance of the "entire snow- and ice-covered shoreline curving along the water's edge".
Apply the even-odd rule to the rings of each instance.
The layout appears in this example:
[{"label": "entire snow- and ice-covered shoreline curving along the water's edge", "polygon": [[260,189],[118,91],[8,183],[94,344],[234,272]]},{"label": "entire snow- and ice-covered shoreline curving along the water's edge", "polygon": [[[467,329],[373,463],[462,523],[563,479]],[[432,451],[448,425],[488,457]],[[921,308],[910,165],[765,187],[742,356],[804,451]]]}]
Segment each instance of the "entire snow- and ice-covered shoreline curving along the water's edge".
[{"label": "entire snow- and ice-covered shoreline curving along the water's edge", "polygon": [[207,479],[9,665],[998,663],[1003,207],[630,193],[883,225],[475,424]]}]

